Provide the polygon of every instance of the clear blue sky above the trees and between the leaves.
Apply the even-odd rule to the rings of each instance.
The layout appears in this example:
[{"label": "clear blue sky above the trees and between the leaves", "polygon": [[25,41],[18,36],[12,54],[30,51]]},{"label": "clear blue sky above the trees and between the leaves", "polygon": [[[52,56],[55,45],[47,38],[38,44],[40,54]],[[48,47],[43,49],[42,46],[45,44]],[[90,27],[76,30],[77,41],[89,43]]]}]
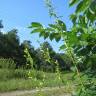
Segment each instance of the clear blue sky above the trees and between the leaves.
[{"label": "clear blue sky above the trees and between the leaves", "polygon": [[[69,0],[52,0],[56,8],[56,12],[63,16],[64,22],[68,29],[71,26],[69,15],[74,12],[75,8],[69,8]],[[17,28],[20,41],[30,40],[35,48],[39,47],[37,40],[41,43],[43,38],[39,38],[38,34],[30,34],[31,30],[27,27],[31,22],[40,22],[44,25],[52,23],[53,20],[48,14],[44,0],[0,0],[0,19],[3,20],[4,32]],[[61,41],[49,43],[54,50],[58,51]]]}]

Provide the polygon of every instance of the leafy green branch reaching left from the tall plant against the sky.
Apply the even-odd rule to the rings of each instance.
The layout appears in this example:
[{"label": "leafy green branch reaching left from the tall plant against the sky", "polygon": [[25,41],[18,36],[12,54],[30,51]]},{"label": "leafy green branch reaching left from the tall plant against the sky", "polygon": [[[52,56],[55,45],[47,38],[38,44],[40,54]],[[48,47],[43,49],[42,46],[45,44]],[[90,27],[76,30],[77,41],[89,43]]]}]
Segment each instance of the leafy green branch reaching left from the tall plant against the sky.
[{"label": "leafy green branch reaching left from the tall plant against the sky", "polygon": [[[31,26],[33,27],[34,22],[31,24]],[[30,26],[30,28],[32,28]],[[37,23],[38,26],[38,23]],[[56,24],[49,24],[49,26],[47,28],[38,28],[38,27],[34,27],[32,30],[32,33],[34,32],[39,32],[40,36],[43,36],[44,39],[46,38],[50,38],[50,40],[55,39],[57,42],[60,41],[61,39],[61,35],[62,35],[62,30],[63,32],[65,32],[66,29],[66,25],[63,21],[61,20],[56,20]]]}]

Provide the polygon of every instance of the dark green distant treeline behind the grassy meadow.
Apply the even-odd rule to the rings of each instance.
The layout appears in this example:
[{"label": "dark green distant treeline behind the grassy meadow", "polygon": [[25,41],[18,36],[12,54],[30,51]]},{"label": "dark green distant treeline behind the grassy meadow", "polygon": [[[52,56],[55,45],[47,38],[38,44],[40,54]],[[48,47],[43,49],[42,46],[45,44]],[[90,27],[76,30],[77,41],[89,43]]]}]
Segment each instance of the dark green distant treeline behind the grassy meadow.
[{"label": "dark green distant treeline behind the grassy meadow", "polygon": [[11,58],[15,62],[15,68],[30,69],[31,65],[27,66],[26,58],[24,57],[24,49],[27,48],[34,63],[34,68],[44,71],[55,71],[56,64],[50,64],[44,58],[44,51],[49,49],[50,58],[54,61],[58,60],[60,70],[70,70],[71,60],[63,53],[56,53],[48,42],[40,44],[38,49],[31,45],[30,41],[20,43],[17,35],[17,30],[13,29],[9,32],[0,32],[0,58]]}]

